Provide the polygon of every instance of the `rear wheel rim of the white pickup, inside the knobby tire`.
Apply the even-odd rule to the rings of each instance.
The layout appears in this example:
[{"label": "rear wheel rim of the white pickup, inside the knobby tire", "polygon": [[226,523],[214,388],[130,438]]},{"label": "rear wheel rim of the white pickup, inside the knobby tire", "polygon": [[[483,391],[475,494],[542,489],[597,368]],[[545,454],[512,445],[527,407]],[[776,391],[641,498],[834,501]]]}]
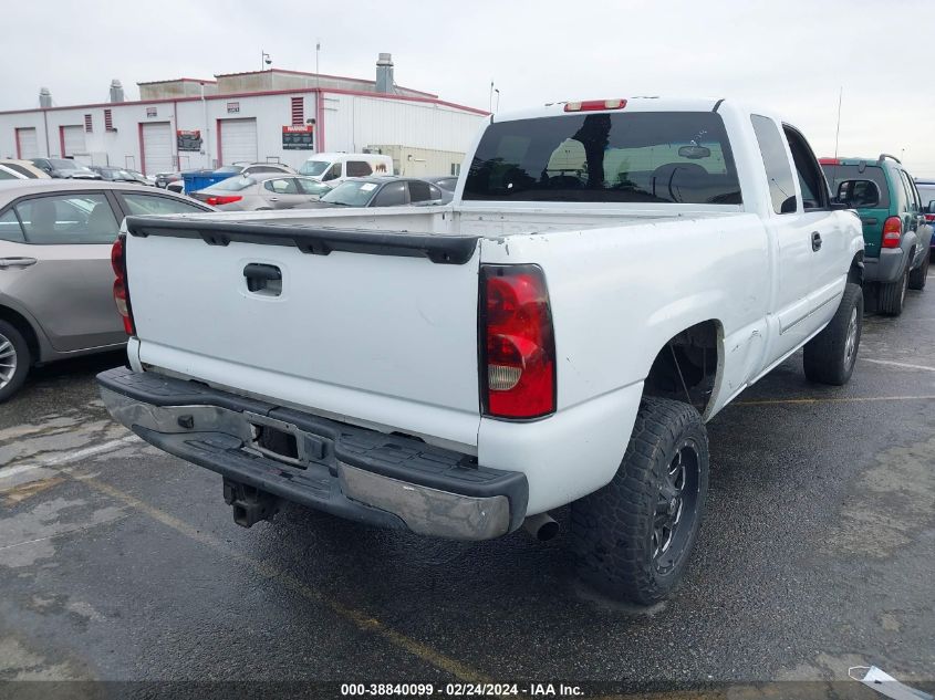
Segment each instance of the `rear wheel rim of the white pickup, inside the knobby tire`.
[{"label": "rear wheel rim of the white pickup, inside the knobby tire", "polygon": [[698,515],[700,460],[693,440],[687,440],[668,463],[653,516],[653,565],[659,573],[682,560]]}]

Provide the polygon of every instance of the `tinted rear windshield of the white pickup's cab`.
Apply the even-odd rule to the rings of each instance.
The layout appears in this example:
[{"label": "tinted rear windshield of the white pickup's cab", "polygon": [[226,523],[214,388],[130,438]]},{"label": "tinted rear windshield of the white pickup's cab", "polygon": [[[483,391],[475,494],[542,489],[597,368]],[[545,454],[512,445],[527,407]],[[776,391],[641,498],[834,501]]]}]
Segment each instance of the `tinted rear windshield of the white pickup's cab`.
[{"label": "tinted rear windshield of the white pickup's cab", "polygon": [[575,114],[491,124],[465,199],[739,205],[720,115]]}]

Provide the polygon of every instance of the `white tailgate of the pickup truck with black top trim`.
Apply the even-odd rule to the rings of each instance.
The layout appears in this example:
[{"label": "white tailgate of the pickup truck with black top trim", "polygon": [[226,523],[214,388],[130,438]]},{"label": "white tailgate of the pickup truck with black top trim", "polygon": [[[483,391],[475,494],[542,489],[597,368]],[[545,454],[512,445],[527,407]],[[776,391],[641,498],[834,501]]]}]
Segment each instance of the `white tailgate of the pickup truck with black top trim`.
[{"label": "white tailgate of the pickup truck with black top trim", "polygon": [[127,230],[144,365],[477,445],[474,238],[147,217]]}]

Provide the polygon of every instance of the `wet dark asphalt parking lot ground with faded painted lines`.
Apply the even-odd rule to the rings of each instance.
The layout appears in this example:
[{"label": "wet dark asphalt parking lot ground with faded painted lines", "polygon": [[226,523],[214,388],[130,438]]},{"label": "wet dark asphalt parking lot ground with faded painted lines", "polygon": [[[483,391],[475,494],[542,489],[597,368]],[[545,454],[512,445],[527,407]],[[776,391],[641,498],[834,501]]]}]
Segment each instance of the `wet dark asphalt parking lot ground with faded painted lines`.
[{"label": "wet dark asphalt parking lot ground with faded painted lines", "polygon": [[[932,282],[932,274],[929,282]],[[0,680],[935,681],[935,283],[868,316],[854,378],[797,355],[709,424],[687,581],[648,612],[575,584],[560,536],[479,544],[287,509],[113,424],[50,366],[0,407]],[[868,691],[869,692],[869,691]],[[872,693],[871,693],[872,694]]]}]

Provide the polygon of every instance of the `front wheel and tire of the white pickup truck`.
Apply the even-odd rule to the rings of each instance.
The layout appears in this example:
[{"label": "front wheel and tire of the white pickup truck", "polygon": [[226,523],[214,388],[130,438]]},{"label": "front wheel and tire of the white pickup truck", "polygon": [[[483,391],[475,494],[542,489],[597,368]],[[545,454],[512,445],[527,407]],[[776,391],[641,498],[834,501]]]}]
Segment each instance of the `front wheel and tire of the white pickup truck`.
[{"label": "front wheel and tire of the white pickup truck", "polygon": [[858,361],[862,330],[863,290],[860,284],[848,283],[830,323],[806,343],[803,364],[809,380],[833,386],[848,384]]}]

